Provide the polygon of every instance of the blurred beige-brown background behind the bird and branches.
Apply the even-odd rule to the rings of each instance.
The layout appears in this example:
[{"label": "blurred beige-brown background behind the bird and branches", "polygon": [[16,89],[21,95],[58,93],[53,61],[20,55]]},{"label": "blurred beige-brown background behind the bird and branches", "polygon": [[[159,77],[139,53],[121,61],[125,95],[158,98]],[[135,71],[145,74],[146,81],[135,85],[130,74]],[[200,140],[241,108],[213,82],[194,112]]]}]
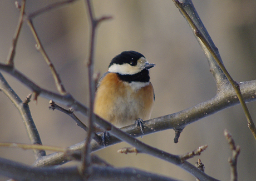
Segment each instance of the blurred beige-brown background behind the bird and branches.
[{"label": "blurred beige-brown background behind the bird and branches", "polygon": [[[19,1],[21,2],[21,1]],[[31,13],[55,0],[27,0],[26,12]],[[138,51],[156,67],[150,71],[155,89],[155,105],[151,118],[179,112],[208,100],[216,94],[208,62],[185,19],[173,1],[109,0],[92,1],[97,17],[111,15],[112,20],[100,24],[97,31],[95,71],[103,74],[111,59],[122,51]],[[237,82],[256,79],[256,1],[193,1],[206,29],[219,48],[223,62]],[[84,1],[76,1],[33,19],[48,56],[60,74],[65,88],[73,97],[88,105],[89,28]],[[7,58],[19,12],[14,1],[3,0],[0,6],[1,62]],[[21,31],[14,59],[16,68],[43,88],[57,92],[49,68],[35,48],[35,40],[26,23]],[[16,79],[3,73],[21,99],[31,93]],[[68,147],[85,139],[85,133],[67,115],[48,110],[49,100],[39,97],[29,103],[43,144]],[[10,100],[0,93],[0,142],[30,143],[21,116]],[[254,122],[256,104],[248,103]],[[78,114],[86,122],[86,118]],[[224,137],[227,128],[240,145],[239,180],[256,180],[256,142],[247,127],[240,105],[188,125],[179,143],[173,143],[174,130],[146,135],[143,142],[172,154],[190,152],[208,144],[198,158],[205,172],[220,180],[229,180],[228,158],[232,154]],[[195,180],[184,170],[145,154],[119,154],[125,143],[96,152],[116,167],[136,167],[181,180]],[[47,152],[51,153],[51,152]],[[26,164],[35,161],[31,150],[0,148],[0,157]],[[71,164],[71,163],[69,163]],[[1,177],[0,180],[7,178]]]}]

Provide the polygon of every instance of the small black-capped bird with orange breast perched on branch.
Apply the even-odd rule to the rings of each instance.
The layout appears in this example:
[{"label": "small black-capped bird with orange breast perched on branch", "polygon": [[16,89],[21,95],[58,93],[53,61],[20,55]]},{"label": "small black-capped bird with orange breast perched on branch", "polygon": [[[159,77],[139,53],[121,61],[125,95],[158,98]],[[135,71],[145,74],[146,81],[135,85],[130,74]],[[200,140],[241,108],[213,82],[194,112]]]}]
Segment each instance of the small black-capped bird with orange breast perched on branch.
[{"label": "small black-capped bird with orange breast perched on branch", "polygon": [[142,123],[150,119],[155,100],[149,76],[149,69],[154,66],[136,51],[115,56],[97,84],[95,114],[117,128],[136,122],[144,133]]}]

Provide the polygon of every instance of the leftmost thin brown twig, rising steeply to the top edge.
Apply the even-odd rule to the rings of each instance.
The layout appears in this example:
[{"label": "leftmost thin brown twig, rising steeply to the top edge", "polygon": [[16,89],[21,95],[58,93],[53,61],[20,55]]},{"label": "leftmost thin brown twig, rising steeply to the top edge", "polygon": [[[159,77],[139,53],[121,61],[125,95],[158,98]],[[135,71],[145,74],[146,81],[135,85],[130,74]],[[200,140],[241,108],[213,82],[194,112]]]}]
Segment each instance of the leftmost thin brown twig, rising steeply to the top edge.
[{"label": "leftmost thin brown twig, rising steeply to the top edge", "polygon": [[[25,4],[26,4],[26,0],[22,0],[21,6],[18,7],[20,9],[20,13],[19,13],[19,20],[18,20],[18,26],[16,29],[16,32],[14,33],[13,39],[12,39],[12,46],[10,48],[8,57],[6,59],[6,64],[8,64],[9,66],[14,66],[14,56],[16,53],[16,46],[17,46],[17,42],[18,42],[18,37],[19,37],[19,33],[21,32],[21,28],[23,25],[23,16],[24,16],[24,11],[25,11]],[[16,2],[16,5],[18,6],[18,3]]]}]

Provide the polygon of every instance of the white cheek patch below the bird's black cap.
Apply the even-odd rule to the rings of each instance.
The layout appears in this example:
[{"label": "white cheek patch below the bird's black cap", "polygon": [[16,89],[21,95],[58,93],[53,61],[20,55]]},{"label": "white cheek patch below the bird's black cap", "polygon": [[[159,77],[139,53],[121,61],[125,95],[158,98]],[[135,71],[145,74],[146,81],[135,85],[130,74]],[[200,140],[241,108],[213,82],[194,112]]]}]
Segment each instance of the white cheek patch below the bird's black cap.
[{"label": "white cheek patch below the bird's black cap", "polygon": [[137,66],[130,66],[130,64],[112,64],[109,68],[109,72],[120,73],[121,75],[133,75],[140,72],[141,69]]}]

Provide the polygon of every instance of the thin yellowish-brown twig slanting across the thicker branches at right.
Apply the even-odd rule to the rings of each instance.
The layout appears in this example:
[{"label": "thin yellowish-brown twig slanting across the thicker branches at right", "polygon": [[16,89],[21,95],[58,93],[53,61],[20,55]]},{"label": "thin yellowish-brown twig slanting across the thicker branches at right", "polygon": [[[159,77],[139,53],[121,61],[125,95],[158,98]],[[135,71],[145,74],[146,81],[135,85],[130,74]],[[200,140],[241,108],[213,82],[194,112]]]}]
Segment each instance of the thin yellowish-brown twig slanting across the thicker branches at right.
[{"label": "thin yellowish-brown twig slanting across the thicker branches at right", "polygon": [[191,9],[193,9],[194,14],[195,14],[196,11],[195,11],[195,8],[193,6],[193,3],[191,2],[191,0],[186,0],[185,3],[181,3],[181,2],[179,2],[179,0],[173,0],[173,1],[175,3],[176,7],[179,8],[180,12],[183,14],[183,16],[186,18],[186,20],[190,24],[191,28],[193,29],[193,31],[195,33],[195,36],[198,37],[200,39],[200,41],[205,45],[205,47],[210,52],[211,56],[213,56],[216,63],[218,63],[218,66],[221,68],[221,70],[223,71],[225,76],[228,78],[230,84],[232,84],[232,86],[235,90],[235,93],[237,94],[237,97],[239,99],[239,102],[242,105],[242,108],[244,110],[245,117],[247,118],[248,127],[251,130],[251,132],[253,133],[254,138],[256,139],[256,127],[253,123],[253,120],[252,120],[252,117],[249,113],[248,107],[245,104],[245,100],[244,100],[243,95],[241,93],[239,84],[233,80],[233,78],[230,76],[227,69],[225,68],[223,62],[221,61],[219,54],[217,54],[216,51],[214,51],[214,48],[211,46],[213,44],[213,42],[211,44],[209,43],[208,40],[211,39],[210,36],[207,36],[207,38],[206,38],[205,34],[201,33],[200,27],[196,26],[196,23],[194,21],[197,21],[198,19],[200,19],[199,16],[198,16],[198,18],[191,18],[189,16],[188,12],[186,12],[185,9],[184,9],[184,7],[191,8]]}]

